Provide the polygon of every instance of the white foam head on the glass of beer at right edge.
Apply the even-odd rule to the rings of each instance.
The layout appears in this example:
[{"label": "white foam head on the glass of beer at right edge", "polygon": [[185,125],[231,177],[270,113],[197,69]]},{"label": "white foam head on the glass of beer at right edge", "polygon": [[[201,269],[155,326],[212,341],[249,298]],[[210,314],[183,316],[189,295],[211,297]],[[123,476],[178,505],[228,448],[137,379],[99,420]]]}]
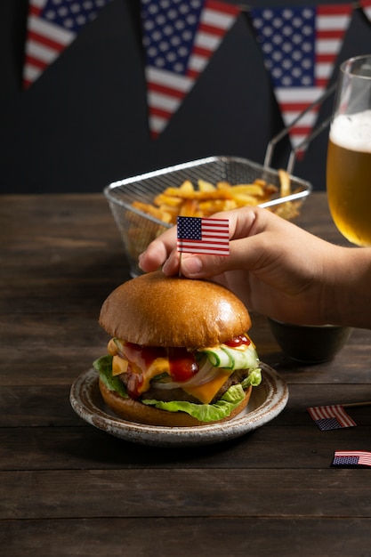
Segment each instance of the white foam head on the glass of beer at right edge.
[{"label": "white foam head on the glass of beer at right edge", "polygon": [[330,140],[343,149],[371,153],[371,110],[335,117]]}]

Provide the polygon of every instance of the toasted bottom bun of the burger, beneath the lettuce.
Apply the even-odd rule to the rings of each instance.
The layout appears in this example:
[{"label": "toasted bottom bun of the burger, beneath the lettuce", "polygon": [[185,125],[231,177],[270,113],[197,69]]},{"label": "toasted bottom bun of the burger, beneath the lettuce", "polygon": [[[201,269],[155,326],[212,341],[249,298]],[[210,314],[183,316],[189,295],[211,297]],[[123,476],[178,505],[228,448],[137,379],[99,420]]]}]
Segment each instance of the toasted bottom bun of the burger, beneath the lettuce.
[{"label": "toasted bottom bun of the burger, beneath the lettuce", "polygon": [[252,387],[250,386],[246,391],[245,399],[242,400],[233,412],[231,412],[230,416],[222,420],[215,420],[214,422],[200,422],[197,418],[190,416],[186,412],[166,412],[166,410],[159,410],[158,408],[146,406],[137,400],[124,399],[117,394],[117,392],[110,391],[101,381],[101,378],[99,380],[99,387],[104,402],[117,414],[117,416],[129,422],[136,422],[137,424],[165,425],[167,427],[193,427],[195,425],[210,425],[227,422],[233,417],[238,416],[238,414],[246,408],[252,391]]}]

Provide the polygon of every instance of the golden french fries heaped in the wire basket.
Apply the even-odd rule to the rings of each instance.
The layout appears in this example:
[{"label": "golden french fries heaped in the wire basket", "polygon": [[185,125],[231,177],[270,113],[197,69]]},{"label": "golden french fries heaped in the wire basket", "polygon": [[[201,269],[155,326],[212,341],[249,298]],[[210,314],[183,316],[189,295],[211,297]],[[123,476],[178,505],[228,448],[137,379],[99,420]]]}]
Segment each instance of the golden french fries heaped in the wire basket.
[{"label": "golden french fries heaped in the wire basket", "polygon": [[[279,170],[278,176],[279,188],[262,179],[257,179],[253,183],[235,185],[229,182],[212,184],[199,179],[197,187],[190,180],[186,180],[179,187],[166,188],[150,204],[134,201],[132,206],[159,221],[175,224],[177,216],[207,217],[242,206],[260,205],[276,195],[279,197],[290,195],[290,176],[285,170]],[[294,203],[285,203],[276,208],[272,207],[272,210],[280,213],[284,218],[294,218],[298,206]]]}]

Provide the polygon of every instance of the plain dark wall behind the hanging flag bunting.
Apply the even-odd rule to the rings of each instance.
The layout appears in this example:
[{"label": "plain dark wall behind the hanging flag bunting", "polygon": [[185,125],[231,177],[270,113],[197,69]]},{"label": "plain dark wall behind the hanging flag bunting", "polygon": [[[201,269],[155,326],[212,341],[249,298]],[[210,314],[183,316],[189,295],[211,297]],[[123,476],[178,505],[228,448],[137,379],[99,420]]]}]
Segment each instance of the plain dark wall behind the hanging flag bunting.
[{"label": "plain dark wall behind the hanging flag bunting", "polygon": [[[25,91],[28,1],[2,0],[1,8],[0,192],[101,191],[109,182],[209,155],[262,163],[268,141],[283,127],[246,14],[238,17],[181,109],[153,141],[139,0],[113,0]],[[338,61],[367,52],[371,24],[355,11]],[[329,100],[320,118],[331,108]],[[326,151],[324,132],[294,167],[294,174],[316,190],[325,188]],[[288,154],[288,141],[282,141],[272,165],[286,166]]]}]

